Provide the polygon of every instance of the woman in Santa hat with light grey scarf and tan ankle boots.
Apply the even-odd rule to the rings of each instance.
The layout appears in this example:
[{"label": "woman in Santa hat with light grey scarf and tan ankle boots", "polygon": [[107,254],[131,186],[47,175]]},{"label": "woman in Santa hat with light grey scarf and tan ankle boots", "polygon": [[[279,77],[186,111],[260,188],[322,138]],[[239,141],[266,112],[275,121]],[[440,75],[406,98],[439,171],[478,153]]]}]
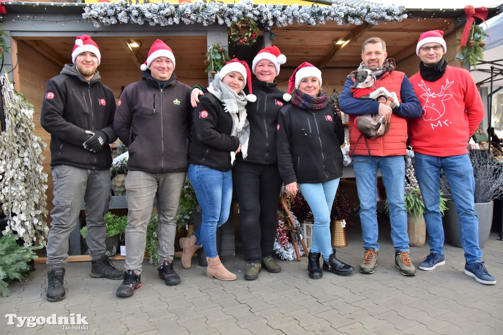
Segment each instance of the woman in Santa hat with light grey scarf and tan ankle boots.
[{"label": "woman in Santa hat with light grey scarf and tan ankle boots", "polygon": [[[248,83],[250,94],[243,92]],[[249,123],[246,102],[254,101],[248,65],[234,58],[215,75],[193,111],[189,137],[187,175],[201,206],[202,222],[190,238],[180,240],[182,264],[188,269],[194,252],[204,248],[208,261],[206,276],[235,280],[220,262],[216,248],[216,230],[223,225],[232,199],[232,163],[241,152],[246,157]]]}]

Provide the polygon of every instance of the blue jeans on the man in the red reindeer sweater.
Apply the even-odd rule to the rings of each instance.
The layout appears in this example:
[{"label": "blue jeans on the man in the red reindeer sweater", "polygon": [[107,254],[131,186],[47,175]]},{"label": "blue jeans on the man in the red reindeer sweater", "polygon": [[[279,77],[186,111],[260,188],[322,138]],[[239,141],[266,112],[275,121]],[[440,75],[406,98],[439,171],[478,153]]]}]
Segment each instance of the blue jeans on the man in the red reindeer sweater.
[{"label": "blue jeans on the man in the red reindeer sweater", "polygon": [[415,174],[425,203],[426,229],[430,252],[444,255],[444,228],[440,214],[440,170],[443,169],[459,216],[461,245],[466,263],[480,262],[478,217],[473,192],[475,178],[468,154],[437,157],[415,153]]}]

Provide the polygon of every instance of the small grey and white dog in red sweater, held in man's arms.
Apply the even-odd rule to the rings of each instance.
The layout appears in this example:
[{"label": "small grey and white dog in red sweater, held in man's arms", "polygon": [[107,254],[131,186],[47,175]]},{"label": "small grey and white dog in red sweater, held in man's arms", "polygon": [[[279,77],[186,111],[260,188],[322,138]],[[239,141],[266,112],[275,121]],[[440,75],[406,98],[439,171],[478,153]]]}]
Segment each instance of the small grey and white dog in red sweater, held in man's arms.
[{"label": "small grey and white dog in red sweater, held in man's arms", "polygon": [[[351,92],[353,93],[354,98],[372,99],[377,101],[380,98],[385,97],[386,99],[393,100],[389,105],[391,108],[398,107],[400,105],[395,92],[389,92],[384,87],[373,87],[374,81],[376,81],[376,76],[371,70],[364,69],[353,71],[348,77],[352,77],[355,80],[355,84],[351,86]],[[356,118],[356,126],[363,136],[372,140],[383,136],[388,132],[389,123],[383,124],[385,117],[380,117],[376,120],[378,117],[379,115],[376,114],[365,114]]]}]

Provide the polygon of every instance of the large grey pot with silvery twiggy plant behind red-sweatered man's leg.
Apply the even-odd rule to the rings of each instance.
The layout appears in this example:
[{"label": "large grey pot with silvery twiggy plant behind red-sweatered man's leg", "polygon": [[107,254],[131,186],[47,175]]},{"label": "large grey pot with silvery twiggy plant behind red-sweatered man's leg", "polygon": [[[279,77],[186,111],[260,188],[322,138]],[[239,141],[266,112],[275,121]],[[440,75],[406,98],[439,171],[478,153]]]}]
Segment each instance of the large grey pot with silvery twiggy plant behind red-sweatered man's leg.
[{"label": "large grey pot with silvery twiggy plant behind red-sweatered man's leg", "polygon": [[[470,149],[469,155],[475,178],[473,195],[478,216],[478,240],[480,248],[484,248],[492,226],[493,200],[503,196],[503,163],[494,161],[488,149]],[[445,175],[442,175],[440,184],[450,199],[447,202],[449,210],[443,218],[446,236],[453,246],[462,248],[458,213]]]}]

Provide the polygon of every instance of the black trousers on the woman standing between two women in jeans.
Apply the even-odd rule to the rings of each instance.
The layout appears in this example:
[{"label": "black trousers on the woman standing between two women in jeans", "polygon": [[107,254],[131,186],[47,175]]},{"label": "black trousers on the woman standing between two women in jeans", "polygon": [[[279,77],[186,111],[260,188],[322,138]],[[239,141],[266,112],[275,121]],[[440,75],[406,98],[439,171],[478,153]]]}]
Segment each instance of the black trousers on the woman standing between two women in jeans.
[{"label": "black trousers on the woman standing between two women in jeans", "polygon": [[273,254],[281,180],[278,166],[236,162],[232,169],[239,204],[244,259],[262,263]]}]

